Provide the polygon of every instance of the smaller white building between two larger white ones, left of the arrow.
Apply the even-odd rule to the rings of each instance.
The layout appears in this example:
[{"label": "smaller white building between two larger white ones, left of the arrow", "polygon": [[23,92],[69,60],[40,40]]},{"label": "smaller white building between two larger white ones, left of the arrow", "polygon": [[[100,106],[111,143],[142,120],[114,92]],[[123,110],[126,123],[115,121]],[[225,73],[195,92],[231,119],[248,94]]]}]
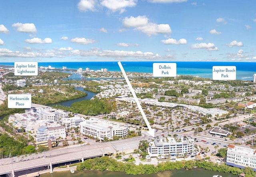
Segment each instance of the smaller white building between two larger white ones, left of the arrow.
[{"label": "smaller white building between two larger white ones, left of the arrow", "polygon": [[58,123],[65,126],[66,130],[70,130],[71,128],[80,127],[80,123],[84,122],[84,120],[84,118],[75,114],[75,116],[71,118],[62,118]]}]

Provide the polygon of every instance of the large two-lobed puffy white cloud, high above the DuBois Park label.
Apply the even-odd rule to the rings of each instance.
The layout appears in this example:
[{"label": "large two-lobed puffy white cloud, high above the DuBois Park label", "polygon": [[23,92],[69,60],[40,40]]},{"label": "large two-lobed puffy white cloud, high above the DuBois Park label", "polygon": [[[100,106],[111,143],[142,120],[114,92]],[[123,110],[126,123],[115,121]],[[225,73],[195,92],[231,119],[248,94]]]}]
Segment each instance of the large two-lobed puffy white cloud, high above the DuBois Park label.
[{"label": "large two-lobed puffy white cloud, high above the DuBois Park label", "polygon": [[135,31],[142,31],[142,33],[147,34],[148,36],[171,33],[172,30],[168,24],[154,24],[148,22],[148,18],[146,16],[138,16],[130,18],[124,18],[123,26],[126,28],[134,27]]}]

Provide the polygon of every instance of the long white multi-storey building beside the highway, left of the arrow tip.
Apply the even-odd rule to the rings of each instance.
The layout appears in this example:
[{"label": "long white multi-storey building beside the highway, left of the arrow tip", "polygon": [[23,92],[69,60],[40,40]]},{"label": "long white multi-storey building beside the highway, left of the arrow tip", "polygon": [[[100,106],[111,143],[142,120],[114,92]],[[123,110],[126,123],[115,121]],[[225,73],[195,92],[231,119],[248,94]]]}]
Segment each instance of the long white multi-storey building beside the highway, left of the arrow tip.
[{"label": "long white multi-storey building beside the highway, left of the arrow tip", "polygon": [[104,140],[105,137],[113,139],[113,136],[127,136],[128,125],[98,118],[90,118],[80,123],[80,133],[86,136],[94,136],[100,140]]}]

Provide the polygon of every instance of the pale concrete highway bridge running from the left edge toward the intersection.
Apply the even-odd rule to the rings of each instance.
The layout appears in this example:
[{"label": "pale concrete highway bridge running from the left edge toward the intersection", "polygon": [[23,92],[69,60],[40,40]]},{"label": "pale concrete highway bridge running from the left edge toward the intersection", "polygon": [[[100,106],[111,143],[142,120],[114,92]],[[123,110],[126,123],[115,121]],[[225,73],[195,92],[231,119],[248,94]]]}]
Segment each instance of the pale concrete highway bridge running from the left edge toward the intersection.
[{"label": "pale concrete highway bridge running from the left edge toward the intersection", "polygon": [[24,159],[22,157],[0,159],[0,175],[11,173],[12,169],[14,171],[21,171],[50,165],[50,163],[65,163],[68,161],[82,160],[82,158],[102,156],[103,154],[116,153],[116,151],[132,151],[133,149],[138,149],[139,141],[137,137],[93,145],[71,145],[66,148],[52,149],[43,153],[27,155]]}]

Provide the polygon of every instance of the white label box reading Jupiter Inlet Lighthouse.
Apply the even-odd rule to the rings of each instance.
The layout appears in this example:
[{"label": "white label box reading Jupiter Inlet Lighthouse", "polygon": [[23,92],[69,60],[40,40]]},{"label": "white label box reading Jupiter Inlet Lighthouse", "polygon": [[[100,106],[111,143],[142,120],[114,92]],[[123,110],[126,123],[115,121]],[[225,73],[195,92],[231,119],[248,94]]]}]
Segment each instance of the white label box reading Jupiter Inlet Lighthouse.
[{"label": "white label box reading Jupiter Inlet Lighthouse", "polygon": [[37,76],[38,62],[36,61],[17,61],[14,62],[15,76]]}]

